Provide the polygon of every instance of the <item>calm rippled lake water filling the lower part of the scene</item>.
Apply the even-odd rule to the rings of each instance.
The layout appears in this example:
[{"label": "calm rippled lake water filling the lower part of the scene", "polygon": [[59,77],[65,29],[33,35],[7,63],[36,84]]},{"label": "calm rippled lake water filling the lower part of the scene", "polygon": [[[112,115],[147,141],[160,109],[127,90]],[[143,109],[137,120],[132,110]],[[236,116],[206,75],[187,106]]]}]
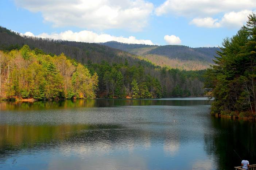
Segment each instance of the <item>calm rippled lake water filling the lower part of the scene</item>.
[{"label": "calm rippled lake water filling the lower part of the scene", "polygon": [[255,122],[207,98],[0,102],[0,169],[233,169],[233,149],[256,163]]}]

